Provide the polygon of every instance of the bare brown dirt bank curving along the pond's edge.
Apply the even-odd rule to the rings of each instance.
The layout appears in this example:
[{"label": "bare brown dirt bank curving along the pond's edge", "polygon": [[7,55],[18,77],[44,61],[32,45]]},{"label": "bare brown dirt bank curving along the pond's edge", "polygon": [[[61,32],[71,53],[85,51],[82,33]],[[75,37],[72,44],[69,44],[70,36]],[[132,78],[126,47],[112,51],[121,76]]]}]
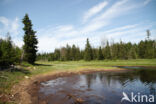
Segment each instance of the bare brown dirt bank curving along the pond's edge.
[{"label": "bare brown dirt bank curving along the pond's edge", "polygon": [[13,86],[12,95],[18,104],[46,104],[45,101],[39,102],[38,90],[40,83],[58,77],[66,77],[77,74],[87,74],[94,72],[125,72],[126,69],[82,69],[79,71],[67,71],[67,72],[51,72],[48,74],[36,75],[31,78],[25,78],[19,84]]}]

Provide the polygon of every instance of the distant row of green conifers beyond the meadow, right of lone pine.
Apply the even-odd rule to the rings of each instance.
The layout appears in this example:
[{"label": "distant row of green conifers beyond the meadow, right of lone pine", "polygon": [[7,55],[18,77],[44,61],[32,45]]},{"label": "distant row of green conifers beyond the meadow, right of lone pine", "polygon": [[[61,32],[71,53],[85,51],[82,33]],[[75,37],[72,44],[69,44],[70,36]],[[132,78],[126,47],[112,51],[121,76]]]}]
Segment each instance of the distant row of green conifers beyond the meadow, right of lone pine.
[{"label": "distant row of green conifers beyond the meadow, right of lone pine", "polygon": [[[147,33],[149,30],[147,30]],[[75,45],[61,47],[55,49],[51,53],[42,53],[37,55],[37,60],[46,61],[77,61],[77,60],[116,60],[116,59],[152,59],[156,58],[156,40],[151,40],[150,35],[147,34],[145,40],[141,40],[138,44],[136,43],[124,43],[123,41],[117,43],[105,42],[98,48],[93,48],[86,40],[84,50],[80,50]]]}]

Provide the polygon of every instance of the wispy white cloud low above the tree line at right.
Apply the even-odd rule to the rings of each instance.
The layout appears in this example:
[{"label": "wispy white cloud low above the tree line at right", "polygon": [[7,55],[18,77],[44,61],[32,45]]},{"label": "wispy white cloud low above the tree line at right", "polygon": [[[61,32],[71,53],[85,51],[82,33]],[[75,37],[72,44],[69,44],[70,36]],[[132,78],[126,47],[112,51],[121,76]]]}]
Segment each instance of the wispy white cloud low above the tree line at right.
[{"label": "wispy white cloud low above the tree line at right", "polygon": [[153,31],[152,26],[149,24],[126,25],[101,32],[99,33],[99,36],[101,35],[101,39],[105,37],[108,40],[114,39],[115,41],[119,41],[122,39],[124,42],[135,42],[135,40],[138,38],[140,38],[140,40],[145,39],[147,29]]}]

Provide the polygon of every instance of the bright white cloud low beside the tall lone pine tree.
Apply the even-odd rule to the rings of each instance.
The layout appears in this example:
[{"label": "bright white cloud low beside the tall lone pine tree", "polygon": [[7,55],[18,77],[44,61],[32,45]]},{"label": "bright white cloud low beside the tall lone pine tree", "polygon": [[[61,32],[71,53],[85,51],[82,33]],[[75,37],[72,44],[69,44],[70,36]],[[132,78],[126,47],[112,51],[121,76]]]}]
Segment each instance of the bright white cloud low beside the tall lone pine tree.
[{"label": "bright white cloud low beside the tall lone pine tree", "polygon": [[51,52],[67,43],[70,45],[76,44],[77,41],[72,41],[74,38],[71,37],[77,34],[72,25],[48,26],[41,29],[37,32],[39,52],[45,52],[45,50]]}]

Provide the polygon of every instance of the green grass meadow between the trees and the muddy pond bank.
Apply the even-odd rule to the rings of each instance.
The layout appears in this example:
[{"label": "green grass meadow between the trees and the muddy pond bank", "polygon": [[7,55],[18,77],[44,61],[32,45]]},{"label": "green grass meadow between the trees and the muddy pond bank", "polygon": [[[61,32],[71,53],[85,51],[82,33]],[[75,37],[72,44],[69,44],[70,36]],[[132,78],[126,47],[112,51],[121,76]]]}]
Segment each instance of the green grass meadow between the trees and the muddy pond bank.
[{"label": "green grass meadow between the trees and the muddy pond bank", "polygon": [[[11,92],[14,84],[24,79],[24,76],[34,76],[48,72],[78,71],[82,69],[114,69],[113,66],[156,66],[156,59],[136,60],[104,60],[104,61],[37,61],[35,65],[22,63],[20,69],[0,71],[0,95]],[[1,100],[1,99],[0,99]],[[1,101],[0,101],[1,103]]]}]

